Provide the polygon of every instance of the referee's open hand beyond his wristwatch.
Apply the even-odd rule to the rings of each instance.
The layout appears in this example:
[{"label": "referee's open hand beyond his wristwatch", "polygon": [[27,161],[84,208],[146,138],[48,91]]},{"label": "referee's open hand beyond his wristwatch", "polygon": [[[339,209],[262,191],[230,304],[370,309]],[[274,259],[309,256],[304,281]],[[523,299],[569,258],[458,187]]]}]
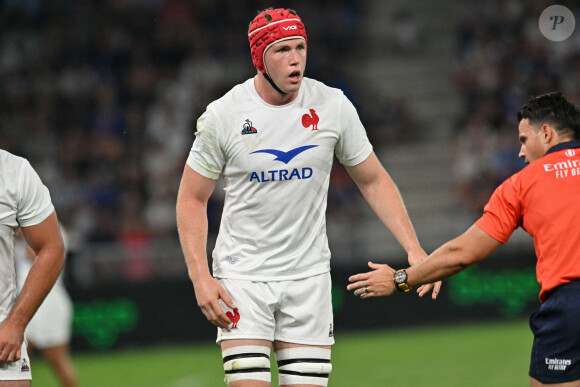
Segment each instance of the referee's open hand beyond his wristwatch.
[{"label": "referee's open hand beyond his wristwatch", "polygon": [[372,271],[355,274],[349,277],[351,282],[346,288],[352,290],[355,296],[361,298],[385,297],[395,293],[393,270],[389,265],[369,262]]}]

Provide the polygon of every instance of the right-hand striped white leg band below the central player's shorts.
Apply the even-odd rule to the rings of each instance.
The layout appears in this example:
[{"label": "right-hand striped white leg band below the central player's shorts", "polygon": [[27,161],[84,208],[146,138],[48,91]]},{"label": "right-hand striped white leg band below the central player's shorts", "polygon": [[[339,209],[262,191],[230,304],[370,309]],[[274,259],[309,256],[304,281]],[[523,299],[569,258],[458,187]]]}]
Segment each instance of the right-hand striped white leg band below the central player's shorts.
[{"label": "right-hand striped white leg band below the central player's shorts", "polygon": [[276,351],[280,385],[327,386],[332,371],[330,349],[294,347]]}]

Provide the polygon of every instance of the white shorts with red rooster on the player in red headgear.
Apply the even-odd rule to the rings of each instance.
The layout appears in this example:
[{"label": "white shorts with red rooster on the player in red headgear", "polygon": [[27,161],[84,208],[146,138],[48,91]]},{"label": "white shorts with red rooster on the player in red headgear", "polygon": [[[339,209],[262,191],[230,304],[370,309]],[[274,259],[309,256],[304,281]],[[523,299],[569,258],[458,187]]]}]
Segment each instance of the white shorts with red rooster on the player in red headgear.
[{"label": "white shorts with red rooster on the player in red headgear", "polygon": [[218,328],[217,342],[234,339],[334,344],[330,273],[292,281],[218,279],[237,311],[222,303],[235,323]]}]

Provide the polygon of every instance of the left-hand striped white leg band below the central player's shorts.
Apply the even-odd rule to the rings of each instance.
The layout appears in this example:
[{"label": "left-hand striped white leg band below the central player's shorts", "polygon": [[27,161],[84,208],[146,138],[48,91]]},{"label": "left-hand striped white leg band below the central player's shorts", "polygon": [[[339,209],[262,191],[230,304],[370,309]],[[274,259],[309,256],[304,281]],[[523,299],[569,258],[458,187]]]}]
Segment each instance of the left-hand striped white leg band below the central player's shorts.
[{"label": "left-hand striped white leg band below the central player's shorts", "polygon": [[259,345],[243,345],[222,351],[225,382],[238,380],[261,380],[270,382],[270,348]]}]

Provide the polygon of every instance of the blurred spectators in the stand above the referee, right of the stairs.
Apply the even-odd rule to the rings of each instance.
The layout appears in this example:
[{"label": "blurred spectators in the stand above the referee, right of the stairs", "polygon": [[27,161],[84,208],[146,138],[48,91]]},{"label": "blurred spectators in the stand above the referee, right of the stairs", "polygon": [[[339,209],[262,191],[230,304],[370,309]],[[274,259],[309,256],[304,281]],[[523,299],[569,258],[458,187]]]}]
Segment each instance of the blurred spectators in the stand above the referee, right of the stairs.
[{"label": "blurred spectators in the stand above the referee, right of the stairs", "polygon": [[[559,4],[578,19],[578,2]],[[455,136],[455,192],[474,216],[493,190],[525,165],[517,158],[518,107],[532,95],[554,90],[580,103],[580,34],[560,42],[546,39],[538,15],[548,5],[486,0],[456,10],[454,83],[463,106]]]}]

